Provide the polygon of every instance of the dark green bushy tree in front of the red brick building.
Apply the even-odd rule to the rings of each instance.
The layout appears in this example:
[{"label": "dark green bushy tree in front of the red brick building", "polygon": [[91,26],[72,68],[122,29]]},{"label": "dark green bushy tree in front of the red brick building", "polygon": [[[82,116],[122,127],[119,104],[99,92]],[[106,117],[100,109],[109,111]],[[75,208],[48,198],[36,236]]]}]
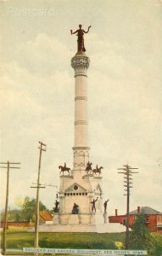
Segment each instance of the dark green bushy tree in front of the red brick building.
[{"label": "dark green bushy tree in front of the red brick building", "polygon": [[145,216],[139,214],[131,228],[130,249],[151,251],[153,246],[152,241],[151,232],[145,225]]}]

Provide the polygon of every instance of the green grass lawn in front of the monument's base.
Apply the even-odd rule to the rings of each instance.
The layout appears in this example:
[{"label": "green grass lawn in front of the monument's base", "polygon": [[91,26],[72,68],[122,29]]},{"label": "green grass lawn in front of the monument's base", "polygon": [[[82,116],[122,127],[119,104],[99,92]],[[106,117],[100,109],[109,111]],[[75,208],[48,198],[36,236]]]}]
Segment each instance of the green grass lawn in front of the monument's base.
[{"label": "green grass lawn in front of the monument's base", "polygon": [[[10,228],[7,230],[6,237],[8,249],[33,247],[34,233],[28,232],[26,228]],[[39,233],[39,247],[116,249],[115,241],[124,242],[124,237],[124,233]],[[14,253],[12,255],[14,255]],[[30,255],[30,253],[28,253],[28,255]]]}]

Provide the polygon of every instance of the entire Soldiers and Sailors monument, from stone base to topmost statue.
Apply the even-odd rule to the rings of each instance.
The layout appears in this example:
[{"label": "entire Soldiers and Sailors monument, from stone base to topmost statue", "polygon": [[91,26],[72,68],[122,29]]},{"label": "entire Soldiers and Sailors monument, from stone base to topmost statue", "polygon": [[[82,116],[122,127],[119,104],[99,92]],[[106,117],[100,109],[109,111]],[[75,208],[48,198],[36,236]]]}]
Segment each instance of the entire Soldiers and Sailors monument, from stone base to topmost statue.
[{"label": "entire Soldiers and Sailors monument, from stone base to topmost statue", "polygon": [[[71,35],[77,36],[77,52],[71,59],[75,72],[75,140],[73,167],[59,166],[59,198],[55,201],[52,225],[40,225],[40,231],[52,232],[97,232],[98,219],[106,222],[107,212],[103,207],[103,166],[93,164],[88,146],[87,115],[87,70],[90,59],[86,55],[84,34],[81,25]],[[104,208],[104,212],[103,212]]]}]

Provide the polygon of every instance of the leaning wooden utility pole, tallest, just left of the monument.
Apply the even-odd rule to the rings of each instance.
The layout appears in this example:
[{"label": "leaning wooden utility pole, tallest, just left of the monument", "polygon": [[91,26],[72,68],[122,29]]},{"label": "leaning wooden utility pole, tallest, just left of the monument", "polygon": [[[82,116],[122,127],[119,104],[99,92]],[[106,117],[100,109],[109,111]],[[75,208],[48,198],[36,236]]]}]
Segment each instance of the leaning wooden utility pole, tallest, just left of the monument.
[{"label": "leaning wooden utility pole, tallest, just left of the monument", "polygon": [[[39,165],[38,165],[38,174],[37,174],[37,185],[36,187],[31,187],[31,188],[36,188],[36,222],[35,222],[35,236],[34,236],[34,247],[38,247],[39,243],[38,243],[38,236],[39,236],[39,231],[38,231],[38,225],[39,225],[39,189],[45,188],[42,187],[40,184],[40,172],[41,172],[41,160],[42,160],[42,151],[46,151],[46,144],[39,142],[40,143],[40,147],[38,147],[40,149],[40,153],[39,153]],[[38,255],[38,253],[36,253],[36,255]]]}]

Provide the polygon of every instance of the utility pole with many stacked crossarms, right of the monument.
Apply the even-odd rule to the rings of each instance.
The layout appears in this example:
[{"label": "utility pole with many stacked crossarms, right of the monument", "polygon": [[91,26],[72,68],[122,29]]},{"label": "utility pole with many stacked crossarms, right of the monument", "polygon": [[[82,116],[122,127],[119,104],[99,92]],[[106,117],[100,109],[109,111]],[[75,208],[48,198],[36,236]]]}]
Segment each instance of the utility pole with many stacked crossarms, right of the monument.
[{"label": "utility pole with many stacked crossarms, right of the monument", "polygon": [[123,170],[124,172],[118,172],[124,174],[124,187],[126,187],[126,249],[129,248],[129,212],[130,212],[130,189],[132,188],[132,173],[138,173],[138,172],[132,172],[131,169],[138,169],[133,168],[131,166],[124,166],[123,168],[118,168],[118,170]]}]

